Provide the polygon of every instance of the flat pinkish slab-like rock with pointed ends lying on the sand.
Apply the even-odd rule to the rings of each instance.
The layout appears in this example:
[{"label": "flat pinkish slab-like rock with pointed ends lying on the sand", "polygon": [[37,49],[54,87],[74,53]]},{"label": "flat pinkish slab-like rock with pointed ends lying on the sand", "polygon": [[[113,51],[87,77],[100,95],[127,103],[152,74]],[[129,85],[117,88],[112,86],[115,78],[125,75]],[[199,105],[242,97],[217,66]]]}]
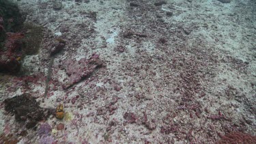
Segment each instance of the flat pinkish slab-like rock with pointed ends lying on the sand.
[{"label": "flat pinkish slab-like rock with pointed ends lying on the sand", "polygon": [[68,89],[89,78],[91,74],[97,69],[103,66],[103,61],[99,59],[99,55],[93,54],[89,59],[82,58],[79,61],[68,60],[63,63],[63,67],[68,74],[68,82],[63,85],[63,89]]}]

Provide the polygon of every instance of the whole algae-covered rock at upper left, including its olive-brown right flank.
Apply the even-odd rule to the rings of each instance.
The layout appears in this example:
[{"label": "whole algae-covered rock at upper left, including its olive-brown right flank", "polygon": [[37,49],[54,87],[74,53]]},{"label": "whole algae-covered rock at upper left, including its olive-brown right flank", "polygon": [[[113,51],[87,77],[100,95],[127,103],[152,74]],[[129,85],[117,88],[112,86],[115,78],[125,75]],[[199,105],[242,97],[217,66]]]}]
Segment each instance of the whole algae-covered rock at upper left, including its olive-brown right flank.
[{"label": "whole algae-covered rock at upper left, including its olive-brown right flank", "polygon": [[25,55],[38,53],[43,29],[24,21],[16,4],[0,0],[0,72],[16,74]]}]

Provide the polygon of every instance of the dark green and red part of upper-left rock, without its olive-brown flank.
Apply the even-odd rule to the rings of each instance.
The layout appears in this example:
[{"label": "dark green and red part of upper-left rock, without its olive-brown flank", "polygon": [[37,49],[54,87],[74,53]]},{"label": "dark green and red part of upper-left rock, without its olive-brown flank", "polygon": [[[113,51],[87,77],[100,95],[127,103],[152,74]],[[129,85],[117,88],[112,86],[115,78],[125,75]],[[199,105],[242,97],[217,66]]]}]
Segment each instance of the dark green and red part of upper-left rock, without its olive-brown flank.
[{"label": "dark green and red part of upper-left rock, without its olive-brown flank", "polygon": [[24,20],[17,5],[0,0],[0,72],[16,73],[20,70],[23,35],[16,31],[21,29]]}]

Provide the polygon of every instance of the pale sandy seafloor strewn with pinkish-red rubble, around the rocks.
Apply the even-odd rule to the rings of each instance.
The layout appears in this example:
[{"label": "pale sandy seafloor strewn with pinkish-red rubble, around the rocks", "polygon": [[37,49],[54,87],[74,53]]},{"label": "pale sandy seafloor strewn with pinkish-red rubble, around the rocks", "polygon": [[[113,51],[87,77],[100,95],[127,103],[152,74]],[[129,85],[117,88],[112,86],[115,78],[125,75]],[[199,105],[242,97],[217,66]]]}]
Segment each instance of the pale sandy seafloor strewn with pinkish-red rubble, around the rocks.
[{"label": "pale sandy seafloor strewn with pinkish-red rubble, around the rocks", "polygon": [[[53,9],[57,2],[61,10]],[[27,130],[19,143],[214,143],[232,131],[256,134],[256,1],[154,2],[17,2],[26,22],[44,27],[40,53],[23,60],[28,75],[42,78],[16,85],[9,76],[0,100],[31,93],[40,106],[63,103],[71,115],[41,121],[53,128],[48,136]],[[55,56],[44,98],[51,42],[58,37],[67,44]],[[69,78],[63,61],[93,53],[105,66],[63,89]],[[0,115],[0,133],[25,129],[3,104]],[[66,128],[56,130],[59,123]]]}]

